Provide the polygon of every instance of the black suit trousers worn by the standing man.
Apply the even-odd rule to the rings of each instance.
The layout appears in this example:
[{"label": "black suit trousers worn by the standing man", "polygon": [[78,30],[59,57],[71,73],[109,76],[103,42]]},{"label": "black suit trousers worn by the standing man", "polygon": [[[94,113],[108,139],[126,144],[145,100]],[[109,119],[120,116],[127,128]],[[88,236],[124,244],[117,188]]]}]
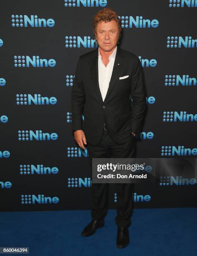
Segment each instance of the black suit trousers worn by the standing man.
[{"label": "black suit trousers worn by the standing man", "polygon": [[[127,138],[127,139],[126,139]],[[101,141],[93,146],[87,142],[88,159],[92,168],[92,158],[134,158],[136,138],[127,131],[124,134],[125,143],[117,144],[107,130],[103,131]],[[91,187],[91,217],[92,220],[104,219],[108,206],[109,183],[92,183]],[[116,225],[126,227],[131,225],[133,183],[116,183]]]}]

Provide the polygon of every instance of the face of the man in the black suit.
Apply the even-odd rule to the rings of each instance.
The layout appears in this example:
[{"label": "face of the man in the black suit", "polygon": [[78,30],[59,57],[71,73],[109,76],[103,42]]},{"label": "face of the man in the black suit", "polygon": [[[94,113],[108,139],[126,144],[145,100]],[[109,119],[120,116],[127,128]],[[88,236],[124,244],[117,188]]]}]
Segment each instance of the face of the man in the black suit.
[{"label": "face of the man in the black suit", "polygon": [[111,51],[118,42],[119,27],[115,20],[101,21],[96,27],[96,40],[103,51]]}]

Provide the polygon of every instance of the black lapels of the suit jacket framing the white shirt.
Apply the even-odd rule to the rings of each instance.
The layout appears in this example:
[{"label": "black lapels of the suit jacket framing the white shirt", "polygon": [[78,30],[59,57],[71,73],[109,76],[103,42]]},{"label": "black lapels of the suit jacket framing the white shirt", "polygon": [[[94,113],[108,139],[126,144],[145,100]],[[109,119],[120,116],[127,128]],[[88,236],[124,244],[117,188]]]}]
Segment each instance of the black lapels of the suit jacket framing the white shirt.
[{"label": "black lapels of the suit jacket framing the white shirt", "polygon": [[110,82],[109,82],[109,88],[108,88],[105,100],[103,101],[101,91],[100,91],[100,88],[99,88],[99,83],[98,83],[98,49],[96,49],[94,53],[95,54],[93,55],[93,58],[90,61],[91,78],[92,78],[93,87],[96,90],[96,94],[98,96],[98,99],[101,101],[101,104],[104,104],[104,103],[106,103],[106,100],[108,99],[108,97],[109,97],[111,91],[113,90],[117,80],[119,79],[119,74],[121,72],[123,62],[122,62],[122,58],[121,58],[121,54],[120,54],[120,49],[117,46],[116,57],[115,57],[115,61],[114,61],[114,67],[113,67],[113,71],[112,71],[112,74],[111,74],[111,79],[110,79]]}]

